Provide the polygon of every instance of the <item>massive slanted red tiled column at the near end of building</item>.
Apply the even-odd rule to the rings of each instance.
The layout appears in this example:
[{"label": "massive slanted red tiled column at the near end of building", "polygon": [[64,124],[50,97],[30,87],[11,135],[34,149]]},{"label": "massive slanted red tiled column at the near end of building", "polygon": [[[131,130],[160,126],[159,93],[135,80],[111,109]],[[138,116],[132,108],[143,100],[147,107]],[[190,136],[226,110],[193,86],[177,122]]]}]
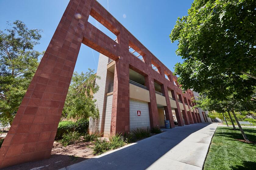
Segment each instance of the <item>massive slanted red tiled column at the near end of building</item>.
[{"label": "massive slanted red tiled column at the near end of building", "polygon": [[69,2],[2,144],[0,168],[49,158],[90,9]]}]

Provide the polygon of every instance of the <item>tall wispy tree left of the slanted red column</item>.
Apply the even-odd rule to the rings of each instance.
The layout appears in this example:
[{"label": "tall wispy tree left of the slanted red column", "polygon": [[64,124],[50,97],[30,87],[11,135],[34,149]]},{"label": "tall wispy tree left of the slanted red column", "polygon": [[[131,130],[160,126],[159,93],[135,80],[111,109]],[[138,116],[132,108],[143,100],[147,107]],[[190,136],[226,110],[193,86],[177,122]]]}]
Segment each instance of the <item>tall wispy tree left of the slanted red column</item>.
[{"label": "tall wispy tree left of the slanted red column", "polygon": [[15,21],[0,31],[0,121],[12,124],[38,66],[42,53],[33,50],[41,39],[39,29]]}]

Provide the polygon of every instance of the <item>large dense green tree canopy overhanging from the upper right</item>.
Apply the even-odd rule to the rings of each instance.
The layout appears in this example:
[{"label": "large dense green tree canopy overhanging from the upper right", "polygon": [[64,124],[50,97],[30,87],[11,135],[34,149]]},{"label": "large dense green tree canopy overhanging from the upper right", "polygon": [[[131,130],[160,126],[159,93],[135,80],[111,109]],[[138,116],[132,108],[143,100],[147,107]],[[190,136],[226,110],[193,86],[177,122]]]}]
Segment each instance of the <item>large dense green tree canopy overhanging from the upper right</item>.
[{"label": "large dense green tree canopy overhanging from the upper right", "polygon": [[233,90],[242,100],[253,94],[255,6],[253,0],[195,0],[188,15],[177,19],[170,39],[179,41],[176,54],[184,59],[174,71],[183,90],[211,87],[224,100]]}]

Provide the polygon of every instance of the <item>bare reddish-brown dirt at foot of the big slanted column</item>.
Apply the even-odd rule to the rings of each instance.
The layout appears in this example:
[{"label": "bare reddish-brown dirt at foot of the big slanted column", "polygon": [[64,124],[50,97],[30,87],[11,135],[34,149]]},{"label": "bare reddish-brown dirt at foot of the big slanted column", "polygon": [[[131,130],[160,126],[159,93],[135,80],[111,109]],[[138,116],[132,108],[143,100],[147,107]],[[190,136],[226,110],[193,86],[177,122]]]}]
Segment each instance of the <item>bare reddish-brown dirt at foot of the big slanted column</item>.
[{"label": "bare reddish-brown dirt at foot of the big slanted column", "polygon": [[62,146],[59,142],[54,142],[51,158],[27,162],[20,165],[3,168],[2,170],[56,170],[80,161],[94,157],[92,154],[92,142],[80,142],[71,144],[67,147]]}]

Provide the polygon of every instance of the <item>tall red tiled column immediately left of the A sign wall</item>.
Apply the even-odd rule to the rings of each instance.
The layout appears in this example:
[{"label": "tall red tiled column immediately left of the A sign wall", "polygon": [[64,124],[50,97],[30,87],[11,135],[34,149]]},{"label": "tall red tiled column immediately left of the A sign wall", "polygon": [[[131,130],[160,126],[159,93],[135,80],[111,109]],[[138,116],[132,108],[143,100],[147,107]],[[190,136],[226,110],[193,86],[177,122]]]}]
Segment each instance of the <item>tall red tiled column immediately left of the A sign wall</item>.
[{"label": "tall red tiled column immediately left of the A sign wall", "polygon": [[129,38],[128,32],[121,30],[117,36],[120,58],[116,60],[110,133],[130,131],[130,95],[129,95]]}]

